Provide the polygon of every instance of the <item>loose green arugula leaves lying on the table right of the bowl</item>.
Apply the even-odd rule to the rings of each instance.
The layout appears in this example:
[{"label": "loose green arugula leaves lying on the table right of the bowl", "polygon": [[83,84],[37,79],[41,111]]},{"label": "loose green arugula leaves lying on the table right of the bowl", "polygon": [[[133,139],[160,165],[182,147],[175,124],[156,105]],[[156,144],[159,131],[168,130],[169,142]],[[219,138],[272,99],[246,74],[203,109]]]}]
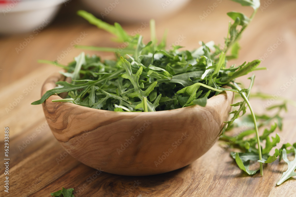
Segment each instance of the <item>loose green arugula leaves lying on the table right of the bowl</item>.
[{"label": "loose green arugula leaves lying on the table right of the bowl", "polygon": [[[266,95],[263,95],[263,98],[266,98]],[[235,162],[237,163],[239,168],[247,174],[253,175],[259,170],[259,168],[255,170],[250,170],[250,163],[254,164],[255,162],[259,162],[262,164],[268,164],[276,161],[277,159],[279,159],[279,161],[281,161],[281,159],[284,159],[284,161],[287,162],[287,153],[295,153],[296,143],[293,145],[289,143],[283,144],[280,149],[277,149],[275,147],[278,146],[278,144],[280,143],[279,135],[276,133],[274,137],[271,136],[270,138],[270,135],[273,134],[277,128],[281,129],[282,123],[281,118],[279,118],[279,114],[281,113],[281,111],[286,110],[286,102],[287,100],[284,100],[283,104],[273,105],[268,109],[278,109],[275,115],[256,115],[256,118],[258,120],[258,128],[266,127],[271,122],[278,122],[278,124],[274,123],[273,125],[271,125],[270,129],[266,128],[263,131],[262,135],[259,136],[260,143],[265,144],[264,148],[261,149],[262,159],[260,159],[258,156],[259,149],[258,146],[256,146],[257,139],[256,137],[252,137],[255,133],[255,129],[254,124],[250,124],[250,122],[252,122],[252,118],[250,118],[250,115],[244,116],[244,118],[242,118],[241,120],[236,119],[236,121],[234,121],[234,123],[232,124],[232,128],[241,128],[242,126],[245,126],[245,131],[239,132],[236,135],[227,135],[227,133],[224,133],[220,137],[220,140],[229,143],[228,147],[230,149],[236,148],[241,150],[241,152],[231,152],[231,156],[233,157],[233,159],[235,159]],[[274,154],[270,155],[270,152],[272,150],[274,150]],[[294,170],[291,170],[293,167],[295,170],[296,166],[294,161],[290,162],[290,164],[288,165],[289,169],[287,170],[287,172],[284,173],[277,185],[280,185],[288,178],[296,175]]]}]

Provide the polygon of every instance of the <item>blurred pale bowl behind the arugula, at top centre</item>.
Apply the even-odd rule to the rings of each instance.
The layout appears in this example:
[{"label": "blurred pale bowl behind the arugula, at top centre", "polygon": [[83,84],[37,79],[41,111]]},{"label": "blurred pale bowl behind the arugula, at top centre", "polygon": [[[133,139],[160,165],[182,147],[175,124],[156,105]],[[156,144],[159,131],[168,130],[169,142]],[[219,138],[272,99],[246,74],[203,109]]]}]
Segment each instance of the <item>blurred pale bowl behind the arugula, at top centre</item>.
[{"label": "blurred pale bowl behind the arugula, at top centre", "polygon": [[117,22],[149,22],[183,8],[190,0],[82,0],[91,12]]}]

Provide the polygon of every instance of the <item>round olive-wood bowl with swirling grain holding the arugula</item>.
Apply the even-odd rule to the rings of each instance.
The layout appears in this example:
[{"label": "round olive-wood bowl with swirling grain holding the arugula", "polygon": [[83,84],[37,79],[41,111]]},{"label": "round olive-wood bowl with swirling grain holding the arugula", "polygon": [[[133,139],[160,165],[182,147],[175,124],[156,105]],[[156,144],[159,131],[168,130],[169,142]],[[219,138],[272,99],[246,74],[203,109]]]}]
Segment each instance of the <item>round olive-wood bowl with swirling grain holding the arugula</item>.
[{"label": "round olive-wood bowl with swirling grain holding the arugula", "polygon": [[[50,76],[41,94],[65,80]],[[43,103],[49,127],[64,149],[90,167],[118,175],[154,175],[194,162],[213,146],[231,110],[233,92],[207,105],[157,111],[114,112],[52,102]]]}]

